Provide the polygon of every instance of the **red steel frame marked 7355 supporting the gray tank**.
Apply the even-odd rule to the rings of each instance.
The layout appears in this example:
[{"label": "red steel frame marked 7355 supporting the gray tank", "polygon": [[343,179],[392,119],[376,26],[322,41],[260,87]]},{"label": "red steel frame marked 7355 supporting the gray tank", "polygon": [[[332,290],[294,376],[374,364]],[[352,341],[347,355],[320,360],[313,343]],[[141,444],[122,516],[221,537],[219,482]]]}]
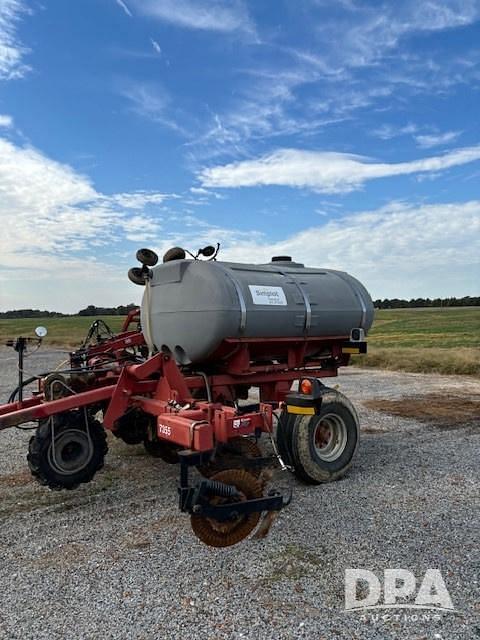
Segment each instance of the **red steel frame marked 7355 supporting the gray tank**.
[{"label": "red steel frame marked 7355 supporting the gray tank", "polygon": [[[87,363],[110,364],[110,369],[95,374],[90,388],[57,400],[47,400],[40,390],[22,402],[0,406],[0,430],[94,405],[103,409],[105,428],[114,431],[127,410],[140,409],[156,418],[158,438],[185,449],[208,451],[216,442],[238,435],[271,431],[273,410],[294,380],[305,375],[336,376],[338,367],[349,360],[342,353],[348,336],[333,336],[225,340],[209,373],[181,370],[166,353],[129,364],[126,350],[145,346],[143,335],[129,330],[137,320],[138,311],[130,312],[120,334],[85,351]],[[266,353],[276,357],[262,361]],[[318,353],[321,357],[310,355]],[[206,385],[211,401],[195,400],[196,392]],[[259,409],[239,414],[232,401],[238,389],[251,386],[259,387]]]}]

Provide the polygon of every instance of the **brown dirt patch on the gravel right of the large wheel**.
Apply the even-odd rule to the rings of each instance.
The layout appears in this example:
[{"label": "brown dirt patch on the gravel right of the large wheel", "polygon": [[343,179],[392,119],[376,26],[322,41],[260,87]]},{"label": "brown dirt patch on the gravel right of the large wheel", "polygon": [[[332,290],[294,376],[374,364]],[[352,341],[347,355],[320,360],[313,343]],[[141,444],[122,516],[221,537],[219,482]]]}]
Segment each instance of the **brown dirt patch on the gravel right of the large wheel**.
[{"label": "brown dirt patch on the gravel right of the large wheel", "polygon": [[402,418],[413,418],[441,428],[480,426],[480,396],[440,393],[406,396],[401,400],[365,400],[364,406]]}]

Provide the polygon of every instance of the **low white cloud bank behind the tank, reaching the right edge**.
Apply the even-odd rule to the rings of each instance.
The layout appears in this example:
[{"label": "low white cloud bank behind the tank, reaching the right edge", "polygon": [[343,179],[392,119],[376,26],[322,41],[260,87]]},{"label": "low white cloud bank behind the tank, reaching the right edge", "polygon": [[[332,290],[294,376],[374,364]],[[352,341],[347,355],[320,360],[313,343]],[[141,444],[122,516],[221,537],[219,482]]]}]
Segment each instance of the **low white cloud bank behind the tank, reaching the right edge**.
[{"label": "low white cloud bank behind the tank, reaching the right edge", "polygon": [[306,265],[348,271],[376,298],[478,295],[480,201],[391,203],[279,242],[241,241],[220,255],[257,263],[291,255]]}]

